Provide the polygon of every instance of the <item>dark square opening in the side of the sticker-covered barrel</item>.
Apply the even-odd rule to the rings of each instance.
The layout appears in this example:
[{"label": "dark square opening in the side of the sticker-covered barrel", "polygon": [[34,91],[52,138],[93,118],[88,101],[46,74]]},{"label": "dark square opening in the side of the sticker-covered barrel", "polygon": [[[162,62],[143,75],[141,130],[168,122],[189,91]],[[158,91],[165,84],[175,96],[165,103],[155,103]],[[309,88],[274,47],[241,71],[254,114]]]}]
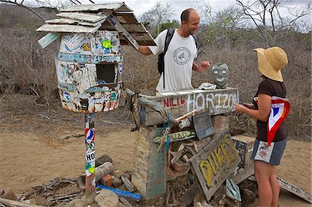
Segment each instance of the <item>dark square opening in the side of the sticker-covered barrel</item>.
[{"label": "dark square opening in the side of the sticker-covered barrel", "polygon": [[115,81],[115,64],[96,64],[98,84],[108,84]]}]

